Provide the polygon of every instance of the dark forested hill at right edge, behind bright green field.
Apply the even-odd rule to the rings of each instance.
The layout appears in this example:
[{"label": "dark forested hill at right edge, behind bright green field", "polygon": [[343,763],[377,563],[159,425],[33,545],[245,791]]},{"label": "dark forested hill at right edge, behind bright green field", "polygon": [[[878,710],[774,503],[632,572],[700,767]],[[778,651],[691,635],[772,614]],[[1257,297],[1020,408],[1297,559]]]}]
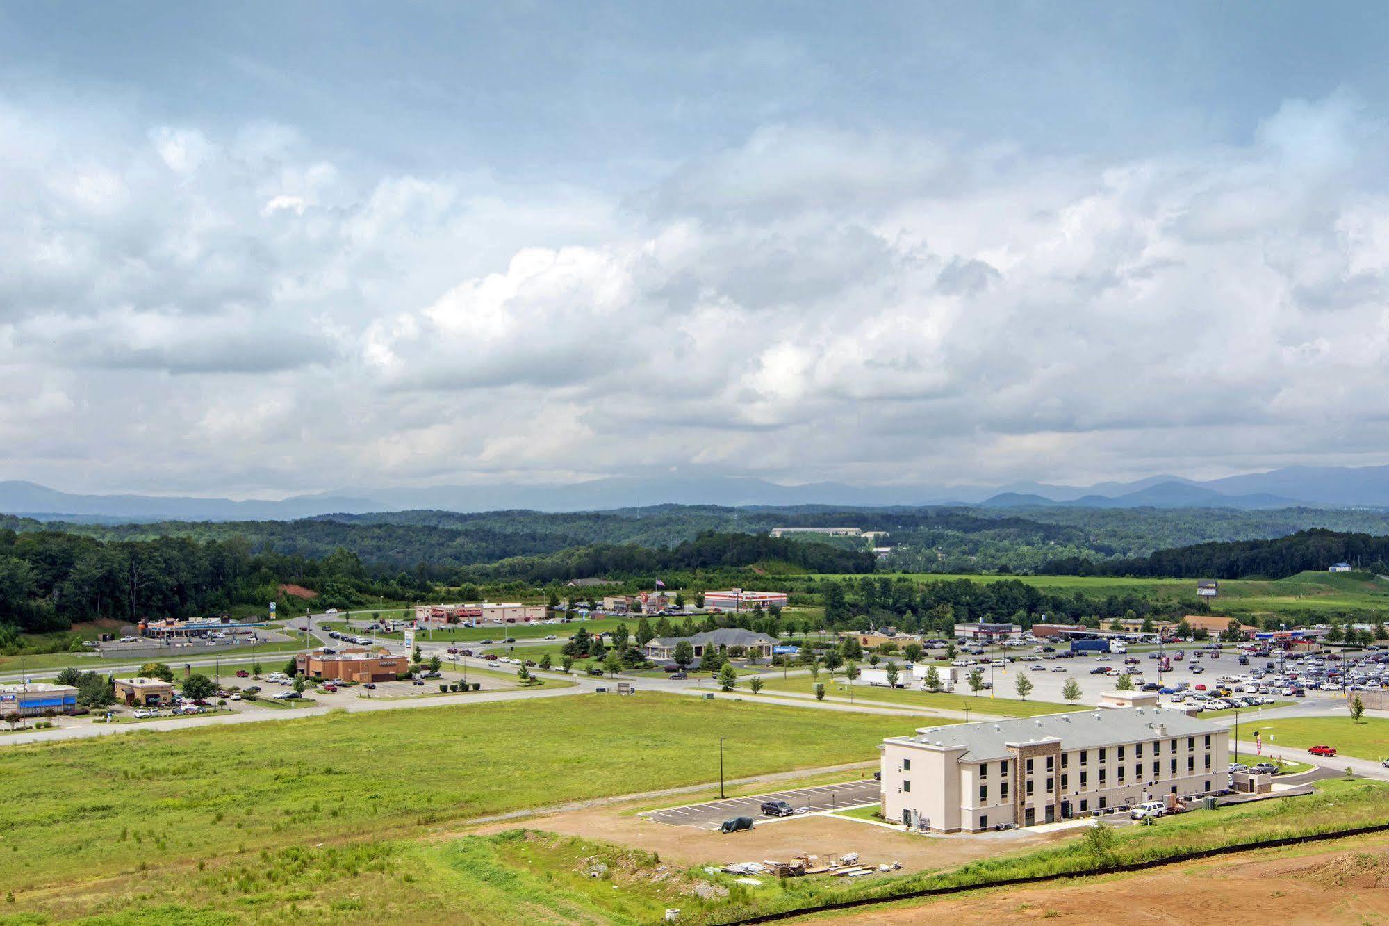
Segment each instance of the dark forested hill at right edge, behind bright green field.
[{"label": "dark forested hill at right edge, behind bright green field", "polygon": [[1138,559],[1096,563],[1067,558],[1039,571],[1143,578],[1285,578],[1306,570],[1324,571],[1333,563],[1389,574],[1389,537],[1313,528],[1275,539],[1178,546]]}]

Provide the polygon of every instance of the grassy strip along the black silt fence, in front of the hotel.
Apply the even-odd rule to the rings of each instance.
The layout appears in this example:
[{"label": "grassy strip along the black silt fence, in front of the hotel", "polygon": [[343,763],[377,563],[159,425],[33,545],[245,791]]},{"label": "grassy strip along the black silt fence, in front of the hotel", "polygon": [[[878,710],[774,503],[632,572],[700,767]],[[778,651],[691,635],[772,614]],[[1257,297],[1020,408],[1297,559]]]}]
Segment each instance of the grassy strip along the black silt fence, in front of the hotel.
[{"label": "grassy strip along the black silt fence, in front of the hotel", "polygon": [[778,886],[778,890],[754,891],[746,904],[729,904],[693,919],[736,923],[774,911],[810,912],[825,904],[903,897],[928,888],[988,887],[1017,877],[1103,873],[1120,865],[1376,825],[1389,825],[1389,784],[1333,780],[1322,783],[1318,793],[1308,797],[1195,811],[1163,818],[1156,826],[1106,827],[1108,838],[1103,840],[1107,843],[1103,847],[1088,838],[1076,838],[1064,845],[971,862],[946,872],[864,879],[867,883],[858,884],[793,879],[785,882],[783,887]]}]

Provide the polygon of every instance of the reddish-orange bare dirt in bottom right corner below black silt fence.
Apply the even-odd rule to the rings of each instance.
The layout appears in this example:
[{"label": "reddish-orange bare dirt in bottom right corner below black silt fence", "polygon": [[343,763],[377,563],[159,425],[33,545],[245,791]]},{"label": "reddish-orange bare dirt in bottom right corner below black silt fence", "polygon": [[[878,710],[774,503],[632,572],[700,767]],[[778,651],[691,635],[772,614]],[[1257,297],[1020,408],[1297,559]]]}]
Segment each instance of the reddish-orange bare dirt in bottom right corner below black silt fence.
[{"label": "reddish-orange bare dirt in bottom right corner below black silt fence", "polygon": [[[1389,841],[1372,838],[1375,841],[1365,843],[1365,851],[1357,852],[1318,852],[1296,858],[1250,852],[1229,861],[1174,865],[1145,875],[1057,882],[1049,887],[982,890],[922,904],[850,912],[833,918],[833,922],[874,926],[925,919],[958,923],[1050,919],[1174,926],[1382,922],[1389,916],[1389,887],[1378,883],[1385,873]],[[1370,876],[1375,877],[1374,884],[1368,883]],[[1385,883],[1389,884],[1389,879]]]}]

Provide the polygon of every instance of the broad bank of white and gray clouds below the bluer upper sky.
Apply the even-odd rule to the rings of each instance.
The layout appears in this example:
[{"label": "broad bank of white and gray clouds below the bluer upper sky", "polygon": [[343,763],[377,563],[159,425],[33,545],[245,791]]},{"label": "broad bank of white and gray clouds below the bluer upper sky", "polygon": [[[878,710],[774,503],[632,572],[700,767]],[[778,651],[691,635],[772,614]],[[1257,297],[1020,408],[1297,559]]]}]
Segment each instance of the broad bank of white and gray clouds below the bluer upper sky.
[{"label": "broad bank of white and gray clouds below the bluer upper sky", "polygon": [[782,124],[622,195],[78,124],[0,106],[8,476],[1085,480],[1389,438],[1349,95],[1124,163]]}]

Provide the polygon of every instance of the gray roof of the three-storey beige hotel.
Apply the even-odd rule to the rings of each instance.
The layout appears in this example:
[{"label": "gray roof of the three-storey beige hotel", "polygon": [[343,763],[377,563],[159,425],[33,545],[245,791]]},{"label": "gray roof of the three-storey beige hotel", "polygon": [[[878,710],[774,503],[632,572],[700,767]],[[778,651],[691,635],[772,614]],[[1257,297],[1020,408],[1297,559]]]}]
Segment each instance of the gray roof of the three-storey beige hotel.
[{"label": "gray roof of the three-storey beige hotel", "polygon": [[[1156,727],[1161,727],[1158,733]],[[1146,742],[1171,737],[1193,737],[1224,733],[1225,727],[1189,717],[1179,710],[1161,708],[1107,708],[1076,713],[1051,713],[1042,717],[960,723],[949,727],[924,727],[910,737],[922,745],[942,748],[965,747],[961,756],[967,762],[1010,759],[1008,744],[1028,744],[1060,740],[1063,749],[1095,749],[1099,747]]]}]

